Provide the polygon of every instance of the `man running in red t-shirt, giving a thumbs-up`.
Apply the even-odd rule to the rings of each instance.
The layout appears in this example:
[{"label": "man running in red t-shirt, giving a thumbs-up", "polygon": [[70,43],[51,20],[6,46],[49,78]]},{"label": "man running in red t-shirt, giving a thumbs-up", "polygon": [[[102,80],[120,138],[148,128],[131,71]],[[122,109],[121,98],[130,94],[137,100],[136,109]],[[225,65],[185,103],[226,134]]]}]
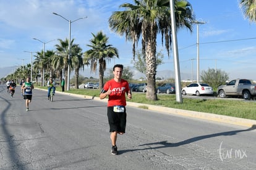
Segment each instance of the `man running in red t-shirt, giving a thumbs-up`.
[{"label": "man running in red t-shirt, giving a thumbs-up", "polygon": [[100,99],[105,99],[108,96],[108,123],[109,132],[111,132],[112,155],[118,154],[116,147],[117,134],[122,135],[126,132],[126,94],[127,99],[132,99],[129,84],[122,79],[123,68],[123,65],[114,65],[114,79],[105,83],[100,94]]}]

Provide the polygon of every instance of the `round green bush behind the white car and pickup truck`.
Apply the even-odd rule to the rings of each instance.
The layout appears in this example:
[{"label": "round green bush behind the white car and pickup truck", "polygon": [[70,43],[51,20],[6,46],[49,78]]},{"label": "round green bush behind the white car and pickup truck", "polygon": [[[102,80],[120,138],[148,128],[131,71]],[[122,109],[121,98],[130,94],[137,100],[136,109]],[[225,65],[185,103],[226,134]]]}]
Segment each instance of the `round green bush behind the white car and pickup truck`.
[{"label": "round green bush behind the white car and pickup truck", "polygon": [[215,70],[213,68],[208,68],[207,71],[203,70],[200,78],[202,79],[203,83],[209,84],[213,89],[216,89],[221,84],[226,83],[229,79],[228,73],[221,70]]}]

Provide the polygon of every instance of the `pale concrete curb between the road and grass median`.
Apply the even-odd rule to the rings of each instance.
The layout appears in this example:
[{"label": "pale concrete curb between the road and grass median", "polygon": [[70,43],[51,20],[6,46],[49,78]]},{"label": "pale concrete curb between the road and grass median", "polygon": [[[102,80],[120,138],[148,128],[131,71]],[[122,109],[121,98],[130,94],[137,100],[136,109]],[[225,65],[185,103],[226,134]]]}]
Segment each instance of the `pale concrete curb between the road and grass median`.
[{"label": "pale concrete curb between the road and grass median", "polygon": [[[40,90],[45,90],[45,89],[40,89]],[[47,91],[47,90],[45,90],[45,91]],[[95,96],[91,96],[91,95],[71,94],[68,92],[58,92],[58,91],[56,91],[56,93],[65,94],[65,95],[73,95],[73,96],[82,97],[85,99],[99,100],[101,102],[108,102],[108,99],[101,100],[100,97],[95,97]],[[134,102],[127,102],[127,106],[137,107],[137,108],[146,108],[148,110],[161,111],[163,113],[187,116],[187,117],[191,117],[191,118],[205,119],[208,121],[216,121],[216,122],[220,122],[220,123],[228,123],[228,124],[234,124],[234,125],[245,126],[245,127],[254,127],[254,128],[256,127],[256,120],[252,120],[252,119],[236,118],[236,117],[225,116],[225,115],[217,115],[217,114],[213,114],[213,113],[182,110],[179,108],[160,107],[160,106],[155,106],[155,105],[148,105],[148,104],[134,103]]]}]

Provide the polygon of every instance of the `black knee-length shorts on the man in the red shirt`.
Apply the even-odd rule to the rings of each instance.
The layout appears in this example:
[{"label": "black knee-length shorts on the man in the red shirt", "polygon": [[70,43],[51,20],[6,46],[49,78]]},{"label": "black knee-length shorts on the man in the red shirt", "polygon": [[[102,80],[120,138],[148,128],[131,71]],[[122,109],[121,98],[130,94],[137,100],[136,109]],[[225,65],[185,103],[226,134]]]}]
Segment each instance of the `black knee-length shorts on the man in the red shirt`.
[{"label": "black knee-length shorts on the man in the red shirt", "polygon": [[126,132],[126,107],[124,112],[114,112],[114,107],[108,107],[109,132]]}]

